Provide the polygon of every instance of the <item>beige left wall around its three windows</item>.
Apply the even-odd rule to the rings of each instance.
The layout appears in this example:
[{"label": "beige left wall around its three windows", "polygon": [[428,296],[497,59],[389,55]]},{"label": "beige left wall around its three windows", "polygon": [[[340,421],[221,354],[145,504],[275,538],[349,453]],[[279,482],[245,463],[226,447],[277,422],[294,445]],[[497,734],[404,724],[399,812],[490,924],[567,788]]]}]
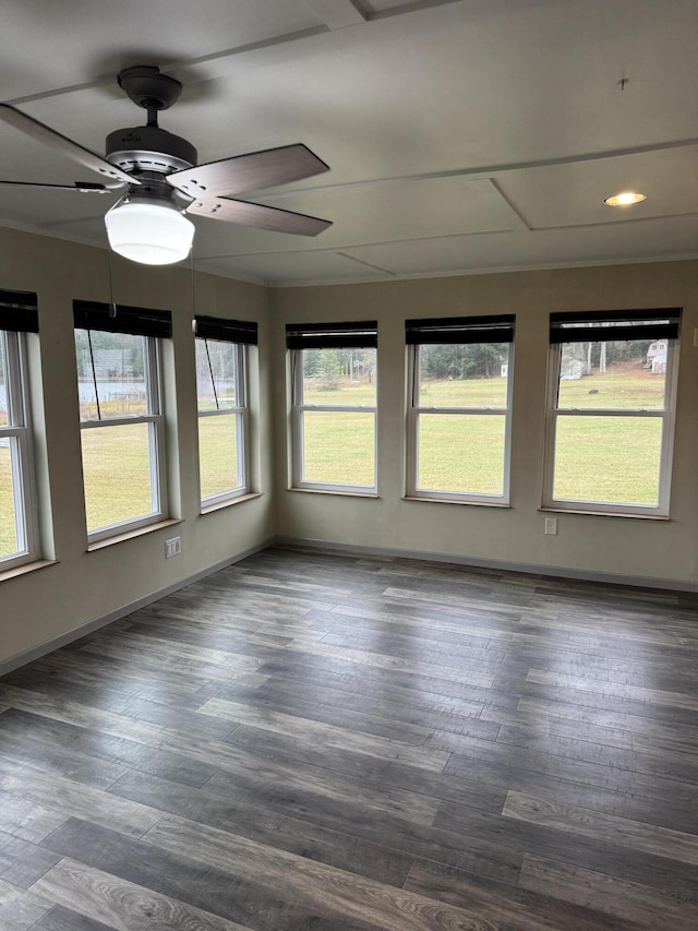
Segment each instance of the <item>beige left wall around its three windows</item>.
[{"label": "beige left wall around its three windows", "polygon": [[[258,375],[252,372],[254,500],[201,515],[196,465],[192,277],[186,268],[149,268],[111,256],[117,302],[172,311],[168,387],[170,513],[177,526],[86,551],[72,300],[110,300],[107,253],[56,239],[0,229],[0,286],[38,293],[40,336],[33,341],[38,399],[39,491],[44,551],[55,565],[0,582],[0,664],[119,611],[154,592],[263,545],[274,535],[269,417],[268,294],[265,288],[197,275],[196,312],[260,323]],[[40,354],[40,355],[39,355]],[[253,353],[256,356],[256,353]],[[43,385],[41,385],[43,382]],[[43,391],[41,391],[43,387]],[[39,397],[40,395],[40,397]],[[165,539],[182,538],[182,554],[165,560]]]}]

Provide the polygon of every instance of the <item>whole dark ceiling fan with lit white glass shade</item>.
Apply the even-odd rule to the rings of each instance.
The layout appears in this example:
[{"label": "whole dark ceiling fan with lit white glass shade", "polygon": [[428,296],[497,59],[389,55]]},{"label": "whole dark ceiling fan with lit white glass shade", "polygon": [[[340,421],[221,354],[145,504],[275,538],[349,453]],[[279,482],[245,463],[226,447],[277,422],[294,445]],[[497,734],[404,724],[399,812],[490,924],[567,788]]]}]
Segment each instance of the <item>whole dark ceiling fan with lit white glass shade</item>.
[{"label": "whole dark ceiling fan with lit white glass shade", "polygon": [[106,183],[0,181],[0,184],[81,193],[110,193],[127,188],[105,217],[109,244],[127,259],[147,265],[169,265],[189,255],[194,224],[188,215],[298,236],[317,236],[332,226],[326,219],[228,196],[328,171],[329,167],[305,145],[284,145],[196,165],[194,146],[160,129],[157,121],[158,112],[178,99],[181,83],[161,74],[158,68],[135,65],[119,73],[119,84],[134,104],[147,110],[147,122],[109,133],[105,158],[9,104],[0,104],[0,120],[83,168],[103,175],[108,179]]}]

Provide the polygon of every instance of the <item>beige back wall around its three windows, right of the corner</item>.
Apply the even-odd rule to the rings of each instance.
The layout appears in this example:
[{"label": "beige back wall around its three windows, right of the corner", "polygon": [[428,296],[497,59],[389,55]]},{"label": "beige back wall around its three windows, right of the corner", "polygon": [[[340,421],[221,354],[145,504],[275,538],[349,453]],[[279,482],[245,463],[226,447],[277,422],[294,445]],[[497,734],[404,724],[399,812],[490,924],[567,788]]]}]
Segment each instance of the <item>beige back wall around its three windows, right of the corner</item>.
[{"label": "beige back wall around its three windows, right of the corner", "polygon": [[[544,536],[540,512],[549,313],[683,307],[671,521],[558,515]],[[509,509],[406,501],[405,319],[517,314]],[[287,288],[272,293],[275,370],[284,326],[378,321],[378,494],[375,499],[289,491],[288,450],[277,446],[277,534],[345,546],[441,553],[570,573],[611,574],[690,587],[698,583],[698,262],[570,268]],[[275,431],[284,437],[288,392],[275,384]]]}]

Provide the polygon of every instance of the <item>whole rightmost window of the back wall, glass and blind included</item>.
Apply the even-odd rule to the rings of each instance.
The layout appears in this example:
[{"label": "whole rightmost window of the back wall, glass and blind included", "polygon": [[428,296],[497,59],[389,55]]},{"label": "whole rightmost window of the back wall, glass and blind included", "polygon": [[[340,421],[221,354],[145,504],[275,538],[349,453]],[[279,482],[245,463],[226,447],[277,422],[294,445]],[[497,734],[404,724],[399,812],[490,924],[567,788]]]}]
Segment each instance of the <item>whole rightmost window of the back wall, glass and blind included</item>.
[{"label": "whole rightmost window of the back wall, glass and blind included", "polygon": [[551,315],[543,506],[669,515],[679,318]]}]

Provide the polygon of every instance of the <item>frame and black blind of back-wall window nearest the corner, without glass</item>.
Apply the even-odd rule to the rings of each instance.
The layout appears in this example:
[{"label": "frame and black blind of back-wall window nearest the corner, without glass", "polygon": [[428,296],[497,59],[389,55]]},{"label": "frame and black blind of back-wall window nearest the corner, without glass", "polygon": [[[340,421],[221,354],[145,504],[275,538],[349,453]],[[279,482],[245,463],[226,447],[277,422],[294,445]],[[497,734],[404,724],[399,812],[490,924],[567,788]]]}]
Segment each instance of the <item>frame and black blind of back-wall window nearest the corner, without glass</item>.
[{"label": "frame and black blind of back-wall window nearest the corner, without glass", "polygon": [[[299,491],[324,491],[336,494],[377,496],[378,482],[378,373],[377,373],[377,322],[351,322],[332,324],[287,324],[287,348],[291,361],[291,477],[290,487]],[[306,349],[375,349],[376,402],[373,405],[305,404],[303,399],[303,353]],[[304,467],[304,414],[323,411],[328,414],[373,415],[373,485],[347,482],[309,481],[303,478]]]}]

